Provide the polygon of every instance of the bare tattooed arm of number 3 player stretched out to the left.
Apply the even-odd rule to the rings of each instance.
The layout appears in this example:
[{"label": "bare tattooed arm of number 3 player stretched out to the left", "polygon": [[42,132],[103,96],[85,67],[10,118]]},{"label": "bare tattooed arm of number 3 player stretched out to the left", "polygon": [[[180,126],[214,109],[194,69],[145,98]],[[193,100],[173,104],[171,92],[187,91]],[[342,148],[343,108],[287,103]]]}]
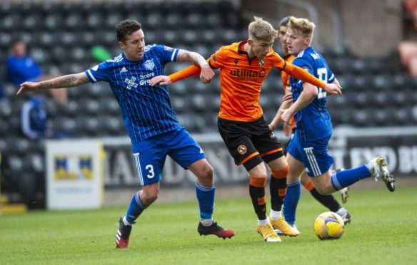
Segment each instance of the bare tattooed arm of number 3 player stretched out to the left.
[{"label": "bare tattooed arm of number 3 player stretched out to the left", "polygon": [[66,76],[59,76],[57,78],[44,80],[42,82],[24,82],[21,83],[19,91],[16,95],[21,95],[26,92],[34,92],[40,89],[54,89],[54,88],[72,88],[74,86],[89,83],[90,80],[86,73],[74,73]]}]

